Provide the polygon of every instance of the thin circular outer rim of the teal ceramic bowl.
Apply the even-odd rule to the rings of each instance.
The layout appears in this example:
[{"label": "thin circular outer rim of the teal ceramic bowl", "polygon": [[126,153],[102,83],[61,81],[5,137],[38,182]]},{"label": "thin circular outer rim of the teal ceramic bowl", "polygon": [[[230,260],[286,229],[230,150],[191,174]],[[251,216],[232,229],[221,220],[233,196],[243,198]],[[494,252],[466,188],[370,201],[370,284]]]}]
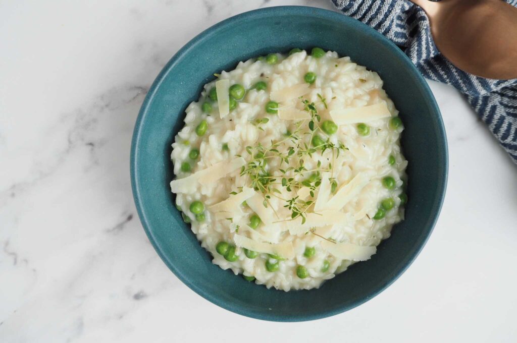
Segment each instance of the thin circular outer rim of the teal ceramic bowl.
[{"label": "thin circular outer rim of the teal ceramic bowl", "polygon": [[[227,303],[225,301],[222,301],[218,299],[218,297],[215,297],[214,295],[206,292],[203,288],[196,285],[195,282],[192,282],[188,277],[186,277],[180,269],[178,269],[174,263],[172,263],[160,250],[157,239],[153,235],[153,232],[149,229],[150,228],[150,222],[146,215],[146,213],[143,210],[143,204],[141,201],[140,191],[141,184],[138,181],[138,178],[136,178],[136,175],[138,174],[138,162],[137,162],[137,156],[138,156],[138,146],[142,131],[142,122],[144,121],[144,118],[146,117],[149,109],[149,104],[153,100],[155,93],[157,92],[158,88],[160,87],[161,83],[165,79],[165,77],[169,74],[171,69],[179,63],[185,56],[189,53],[191,49],[193,49],[197,43],[200,41],[207,39],[210,35],[214,35],[218,32],[218,30],[224,28],[226,25],[231,24],[236,21],[246,21],[247,18],[254,17],[256,15],[278,15],[282,14],[284,11],[290,11],[291,14],[302,14],[302,15],[311,15],[311,16],[318,16],[318,17],[326,17],[331,18],[332,20],[336,20],[339,22],[342,22],[345,25],[359,25],[362,26],[362,28],[366,31],[367,34],[373,36],[375,39],[381,41],[382,43],[386,44],[387,47],[391,50],[393,50],[393,53],[398,56],[401,60],[401,62],[405,65],[405,67],[415,74],[418,82],[422,85],[424,95],[430,100],[430,105],[432,107],[432,110],[437,113],[437,128],[440,133],[440,135],[443,137],[443,144],[444,144],[444,151],[443,151],[443,157],[444,157],[444,168],[443,168],[443,185],[442,189],[439,190],[440,197],[437,201],[437,207],[436,207],[436,213],[434,214],[434,218],[431,222],[431,226],[429,229],[429,232],[427,233],[427,236],[423,239],[423,241],[420,243],[420,246],[414,251],[412,256],[409,256],[407,264],[400,269],[397,273],[393,274],[393,276],[390,278],[390,280],[384,284],[382,287],[379,287],[374,293],[372,293],[369,297],[364,297],[361,300],[358,300],[352,305],[343,305],[340,306],[334,310],[328,310],[324,313],[318,313],[318,314],[312,314],[312,315],[306,315],[306,314],[293,314],[290,316],[286,315],[277,315],[274,313],[260,313],[258,311],[249,310],[248,308],[244,308],[241,306],[235,306],[232,303]],[[294,13],[293,13],[294,12]],[[436,222],[438,220],[438,216],[440,214],[440,211],[442,210],[446,188],[447,188],[447,178],[448,178],[448,169],[449,169],[449,154],[448,154],[448,144],[447,144],[447,136],[445,132],[445,127],[443,123],[443,118],[440,113],[438,104],[436,103],[436,99],[434,98],[434,95],[429,88],[428,83],[425,81],[422,74],[418,71],[418,69],[415,67],[413,62],[409,59],[408,56],[406,56],[403,51],[394,44],[391,40],[389,40],[387,37],[382,35],[381,33],[378,33],[375,29],[371,28],[370,26],[353,19],[351,17],[348,17],[347,15],[327,9],[322,9],[318,7],[310,7],[310,6],[273,6],[273,7],[267,7],[267,8],[260,8],[255,9],[247,12],[243,12],[237,15],[234,15],[233,17],[227,18],[223,21],[220,21],[207,29],[205,29],[202,33],[198,34],[194,38],[192,38],[189,42],[187,42],[181,49],[179,49],[176,54],[169,60],[169,62],[163,67],[163,69],[160,71],[158,76],[156,77],[155,81],[149,88],[149,91],[147,92],[147,95],[142,103],[142,106],[140,108],[138,117],[136,118],[134,130],[133,130],[133,136],[131,139],[131,154],[130,154],[130,178],[131,178],[131,189],[133,193],[133,199],[136,206],[136,211],[139,215],[140,221],[142,223],[142,226],[145,230],[145,233],[147,235],[147,238],[153,245],[155,251],[160,256],[162,261],[165,263],[165,265],[183,282],[187,287],[189,287],[191,290],[193,290],[195,293],[201,295],[206,300],[210,301],[211,303],[222,307],[226,310],[232,311],[233,313],[255,318],[255,319],[261,319],[261,320],[268,320],[268,321],[277,321],[277,322],[299,322],[299,321],[308,321],[308,320],[316,320],[316,319],[322,319],[326,317],[331,317],[340,313],[343,313],[347,310],[350,310],[352,308],[355,308],[372,298],[376,297],[379,293],[384,291],[386,288],[388,288],[391,284],[393,284],[406,270],[409,268],[409,266],[414,262],[416,257],[420,254],[423,246],[427,243],[429,237],[431,236],[431,233],[436,225]]]}]

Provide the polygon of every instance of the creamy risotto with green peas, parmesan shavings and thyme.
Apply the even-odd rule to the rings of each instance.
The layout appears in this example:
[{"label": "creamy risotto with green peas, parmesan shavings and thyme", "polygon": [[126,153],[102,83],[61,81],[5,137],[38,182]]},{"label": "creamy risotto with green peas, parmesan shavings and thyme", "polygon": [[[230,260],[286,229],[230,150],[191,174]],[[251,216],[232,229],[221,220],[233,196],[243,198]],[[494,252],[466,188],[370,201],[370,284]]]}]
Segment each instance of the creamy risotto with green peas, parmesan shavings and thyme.
[{"label": "creamy risotto with green peas, parmesan shavings and thyme", "polygon": [[403,220],[403,124],[375,72],[314,48],[204,86],[172,145],[176,207],[222,269],[284,291],[371,258]]}]

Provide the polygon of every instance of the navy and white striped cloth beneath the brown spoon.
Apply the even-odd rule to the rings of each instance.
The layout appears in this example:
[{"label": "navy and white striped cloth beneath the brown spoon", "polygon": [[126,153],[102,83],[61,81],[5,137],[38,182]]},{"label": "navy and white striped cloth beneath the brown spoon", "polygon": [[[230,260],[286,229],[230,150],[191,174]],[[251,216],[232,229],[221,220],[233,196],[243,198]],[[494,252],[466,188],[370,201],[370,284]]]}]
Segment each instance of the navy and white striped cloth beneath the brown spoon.
[{"label": "navy and white striped cloth beneath the brown spoon", "polygon": [[[517,7],[517,0],[505,1]],[[424,77],[447,83],[464,93],[517,163],[517,79],[484,79],[454,67],[434,45],[425,12],[407,0],[332,2],[344,14],[368,24],[401,46]]]}]

